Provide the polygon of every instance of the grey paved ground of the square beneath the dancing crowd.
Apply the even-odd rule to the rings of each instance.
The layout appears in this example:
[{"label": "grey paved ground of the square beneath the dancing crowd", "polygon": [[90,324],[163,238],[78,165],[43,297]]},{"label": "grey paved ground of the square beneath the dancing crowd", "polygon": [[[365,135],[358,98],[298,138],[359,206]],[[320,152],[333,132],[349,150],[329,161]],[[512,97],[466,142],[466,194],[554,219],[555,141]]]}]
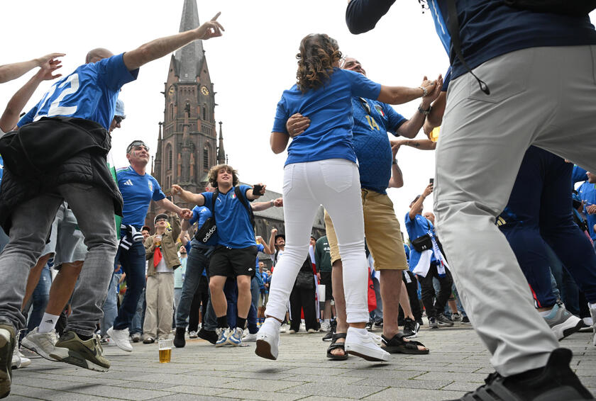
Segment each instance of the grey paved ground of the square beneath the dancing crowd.
[{"label": "grey paved ground of the square beneath the dancing crowd", "polygon": [[[573,350],[572,368],[596,393],[591,335],[573,334],[561,346]],[[13,371],[7,400],[445,400],[477,388],[493,371],[471,327],[423,327],[417,340],[430,354],[392,355],[387,363],[329,361],[322,336],[282,334],[277,361],[255,356],[254,343],[216,349],[203,340],[173,349],[171,363],[159,363],[157,344],[134,344],[132,354],[106,346],[107,373],[34,358]]]}]

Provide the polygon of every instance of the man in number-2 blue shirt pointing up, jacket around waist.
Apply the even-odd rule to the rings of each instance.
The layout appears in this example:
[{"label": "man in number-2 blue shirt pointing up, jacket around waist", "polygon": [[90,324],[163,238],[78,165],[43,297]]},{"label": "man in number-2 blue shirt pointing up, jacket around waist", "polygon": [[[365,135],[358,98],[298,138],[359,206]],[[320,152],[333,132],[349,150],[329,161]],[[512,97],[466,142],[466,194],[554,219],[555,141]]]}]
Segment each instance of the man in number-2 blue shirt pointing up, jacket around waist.
[{"label": "man in number-2 blue shirt pointing up, jacket around waist", "polygon": [[122,196],[106,164],[116,99],[143,64],[194,40],[221,36],[218,16],[119,55],[92,50],[86,64],[57,81],[21,118],[18,131],[1,138],[0,225],[10,241],[0,256],[5,278],[0,283],[0,397],[10,392],[11,344],[25,324],[21,302],[28,271],[64,200],[77,217],[88,254],[72,295],[75,307],[56,346],[67,349],[60,354],[62,361],[98,371],[109,368],[93,334],[116,256],[114,214],[122,213]]}]

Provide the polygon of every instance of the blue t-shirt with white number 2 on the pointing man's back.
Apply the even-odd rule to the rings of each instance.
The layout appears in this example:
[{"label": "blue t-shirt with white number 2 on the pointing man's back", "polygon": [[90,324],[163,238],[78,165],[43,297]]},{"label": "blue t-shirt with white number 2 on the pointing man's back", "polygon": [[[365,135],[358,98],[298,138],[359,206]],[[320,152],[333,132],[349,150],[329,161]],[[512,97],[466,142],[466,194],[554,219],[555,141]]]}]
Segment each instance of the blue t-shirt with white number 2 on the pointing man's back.
[{"label": "blue t-shirt with white number 2 on the pointing man's back", "polygon": [[83,64],[57,81],[41,101],[23,115],[18,126],[42,117],[62,115],[92,120],[109,129],[121,87],[138,76],[138,69],[128,71],[123,54]]}]

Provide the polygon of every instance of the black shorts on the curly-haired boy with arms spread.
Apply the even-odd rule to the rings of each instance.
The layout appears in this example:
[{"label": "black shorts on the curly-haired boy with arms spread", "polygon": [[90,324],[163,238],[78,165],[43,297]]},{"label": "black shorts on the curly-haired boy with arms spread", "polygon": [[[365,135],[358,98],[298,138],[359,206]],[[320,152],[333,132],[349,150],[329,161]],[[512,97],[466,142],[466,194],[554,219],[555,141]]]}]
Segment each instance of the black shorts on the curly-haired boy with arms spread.
[{"label": "black shorts on the curly-haired boy with arms spread", "polygon": [[257,260],[257,247],[215,249],[209,261],[209,277],[253,276]]}]

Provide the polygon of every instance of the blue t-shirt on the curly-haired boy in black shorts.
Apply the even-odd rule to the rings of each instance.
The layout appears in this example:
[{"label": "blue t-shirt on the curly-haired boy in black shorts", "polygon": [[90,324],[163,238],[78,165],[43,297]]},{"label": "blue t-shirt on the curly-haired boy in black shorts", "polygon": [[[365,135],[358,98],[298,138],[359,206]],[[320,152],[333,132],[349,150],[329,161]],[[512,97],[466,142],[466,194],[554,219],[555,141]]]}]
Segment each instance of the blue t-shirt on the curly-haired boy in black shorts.
[{"label": "blue t-shirt on the curly-haired boy in black shorts", "polygon": [[[241,185],[241,195],[245,197],[246,191],[251,187]],[[204,192],[205,205],[211,209],[213,193]],[[250,202],[250,200],[248,200]],[[250,208],[250,205],[248,205]],[[255,232],[250,224],[248,212],[236,198],[236,191],[232,187],[228,193],[219,193],[215,201],[215,222],[217,225],[218,244],[233,249],[241,249],[255,246]]]}]

